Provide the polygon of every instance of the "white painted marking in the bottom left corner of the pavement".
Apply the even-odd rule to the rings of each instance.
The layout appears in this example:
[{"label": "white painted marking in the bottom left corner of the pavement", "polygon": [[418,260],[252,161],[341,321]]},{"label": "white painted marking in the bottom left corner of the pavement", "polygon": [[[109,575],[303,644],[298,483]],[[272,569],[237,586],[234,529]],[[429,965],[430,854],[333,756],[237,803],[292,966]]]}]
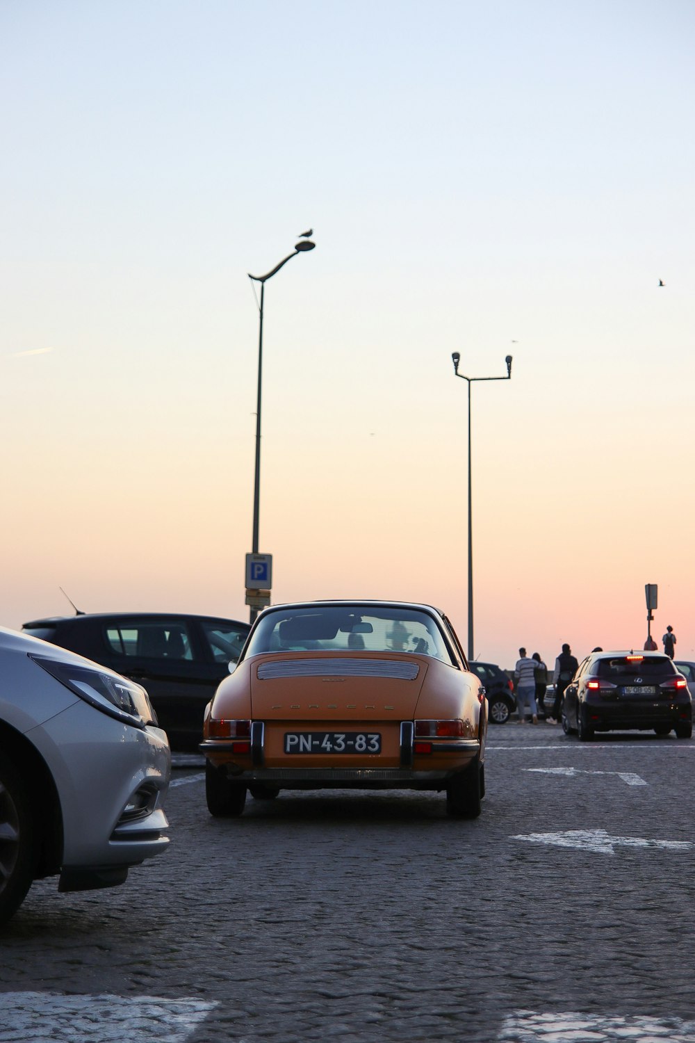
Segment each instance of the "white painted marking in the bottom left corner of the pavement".
[{"label": "white painted marking in the bottom left corner of the pavement", "polygon": [[[219,1004],[159,996],[60,996],[0,993],[0,1041],[185,1043]],[[41,1020],[39,1020],[41,1019]]]}]

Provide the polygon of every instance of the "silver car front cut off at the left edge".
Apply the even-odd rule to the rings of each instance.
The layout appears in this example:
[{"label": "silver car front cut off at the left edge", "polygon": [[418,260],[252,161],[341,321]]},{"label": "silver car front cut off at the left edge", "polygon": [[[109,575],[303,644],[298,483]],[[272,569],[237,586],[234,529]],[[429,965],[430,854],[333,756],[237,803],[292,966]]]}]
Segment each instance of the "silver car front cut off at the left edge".
[{"label": "silver car front cut off at the left edge", "polygon": [[166,850],[170,773],[144,688],[0,628],[0,923],[32,880],[115,887]]}]

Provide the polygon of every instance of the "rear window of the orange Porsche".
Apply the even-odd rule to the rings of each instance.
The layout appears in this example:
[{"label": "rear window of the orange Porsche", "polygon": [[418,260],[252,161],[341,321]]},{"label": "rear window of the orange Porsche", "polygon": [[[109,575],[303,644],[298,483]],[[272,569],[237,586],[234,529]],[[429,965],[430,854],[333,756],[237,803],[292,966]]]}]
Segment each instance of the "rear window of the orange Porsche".
[{"label": "rear window of the orange Porsche", "polygon": [[433,616],[406,606],[304,605],[265,612],[245,658],[263,652],[418,652],[455,665]]}]

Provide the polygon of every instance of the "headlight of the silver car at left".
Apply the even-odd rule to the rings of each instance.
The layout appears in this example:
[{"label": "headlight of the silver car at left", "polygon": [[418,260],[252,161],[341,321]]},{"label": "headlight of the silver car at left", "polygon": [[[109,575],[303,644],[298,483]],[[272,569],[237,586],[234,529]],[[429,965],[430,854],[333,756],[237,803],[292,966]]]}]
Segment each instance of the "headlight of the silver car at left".
[{"label": "headlight of the silver car at left", "polygon": [[95,666],[61,662],[39,655],[30,655],[29,658],[80,699],[117,721],[134,725],[135,728],[156,725],[156,713],[148,695],[134,681]]}]

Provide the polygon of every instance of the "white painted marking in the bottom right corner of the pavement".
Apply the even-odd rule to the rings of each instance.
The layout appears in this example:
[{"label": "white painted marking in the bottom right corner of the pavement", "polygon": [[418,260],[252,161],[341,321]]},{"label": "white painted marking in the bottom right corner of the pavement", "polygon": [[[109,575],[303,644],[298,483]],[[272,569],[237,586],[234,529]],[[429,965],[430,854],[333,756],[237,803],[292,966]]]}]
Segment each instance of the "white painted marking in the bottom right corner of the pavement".
[{"label": "white painted marking in the bottom right corner of the pavement", "polygon": [[680,1018],[601,1017],[600,1015],[537,1014],[516,1011],[504,1020],[497,1037],[500,1043],[695,1043],[695,1021]]}]

